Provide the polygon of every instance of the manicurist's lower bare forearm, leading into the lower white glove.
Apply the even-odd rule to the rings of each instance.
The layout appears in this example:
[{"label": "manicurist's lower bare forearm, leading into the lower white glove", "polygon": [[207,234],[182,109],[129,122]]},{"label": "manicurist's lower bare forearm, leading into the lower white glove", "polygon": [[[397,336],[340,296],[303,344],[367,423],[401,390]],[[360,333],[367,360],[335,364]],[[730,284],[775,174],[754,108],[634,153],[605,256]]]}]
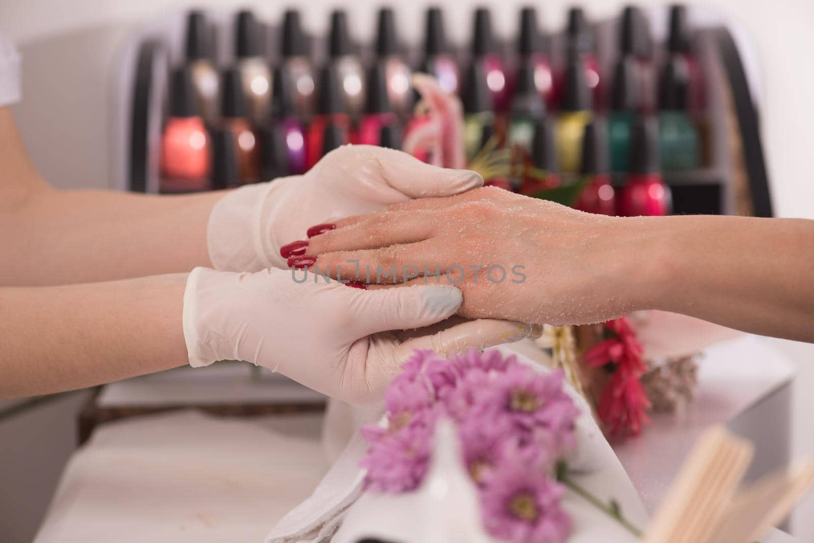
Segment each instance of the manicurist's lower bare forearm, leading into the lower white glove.
[{"label": "manicurist's lower bare forearm, leading into the lower white glove", "polygon": [[0,289],[0,397],[79,389],[187,362],[186,274]]}]

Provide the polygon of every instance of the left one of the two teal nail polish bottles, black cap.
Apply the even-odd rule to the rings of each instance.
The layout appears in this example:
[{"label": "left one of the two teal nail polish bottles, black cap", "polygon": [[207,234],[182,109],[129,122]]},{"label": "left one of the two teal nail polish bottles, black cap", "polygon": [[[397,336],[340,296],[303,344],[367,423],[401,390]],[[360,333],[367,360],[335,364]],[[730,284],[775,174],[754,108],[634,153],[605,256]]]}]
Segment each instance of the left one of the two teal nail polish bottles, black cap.
[{"label": "left one of the two teal nail polish bottles, black cap", "polygon": [[627,172],[630,164],[630,132],[639,110],[636,69],[636,59],[630,56],[619,57],[616,61],[608,113],[612,172]]}]

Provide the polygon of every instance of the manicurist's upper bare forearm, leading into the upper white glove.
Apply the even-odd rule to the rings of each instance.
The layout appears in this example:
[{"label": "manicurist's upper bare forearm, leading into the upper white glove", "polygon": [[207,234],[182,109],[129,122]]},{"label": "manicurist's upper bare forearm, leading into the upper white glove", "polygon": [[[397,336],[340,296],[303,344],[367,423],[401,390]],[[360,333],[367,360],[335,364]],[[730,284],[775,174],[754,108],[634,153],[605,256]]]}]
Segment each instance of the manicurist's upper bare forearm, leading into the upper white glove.
[{"label": "manicurist's upper bare forearm, leading into the upper white glove", "polygon": [[211,266],[207,221],[223,193],[52,189],[0,108],[0,285],[61,285]]}]

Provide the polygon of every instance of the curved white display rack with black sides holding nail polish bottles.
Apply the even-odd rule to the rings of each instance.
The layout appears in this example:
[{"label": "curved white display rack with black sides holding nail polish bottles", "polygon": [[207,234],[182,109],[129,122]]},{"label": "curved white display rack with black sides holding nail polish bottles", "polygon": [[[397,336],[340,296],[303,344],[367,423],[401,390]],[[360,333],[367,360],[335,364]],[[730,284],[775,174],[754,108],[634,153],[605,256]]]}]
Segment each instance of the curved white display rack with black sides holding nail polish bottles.
[{"label": "curved white display rack with black sides holding nail polish bottles", "polygon": [[[496,5],[491,9],[497,13],[502,8]],[[590,16],[589,5],[586,11]],[[667,39],[668,7],[652,7],[643,12],[650,25],[654,44],[652,59],[658,73],[664,56],[662,46]],[[771,216],[768,176],[759,135],[760,73],[754,46],[743,29],[720,12],[693,6],[689,7],[688,14],[693,28],[692,48],[704,80],[702,115],[706,128],[702,135],[702,165],[693,170],[663,172],[664,180],[672,189],[673,212]],[[517,14],[511,16],[514,15]],[[538,14],[544,26],[545,15],[545,11]],[[309,20],[315,16],[309,11],[302,13],[317,72],[326,61],[326,37],[308,35]],[[212,11],[207,17],[215,43],[213,62],[219,68],[228,67],[234,62],[234,14]],[[396,20],[398,17],[396,12]],[[279,18],[282,20],[282,11]],[[272,65],[280,60],[282,37],[278,22],[266,20],[262,24],[265,57]],[[452,20],[447,21],[451,23]],[[471,21],[466,24],[470,25]],[[619,24],[618,19],[591,24],[594,52],[605,78],[606,93],[610,93],[610,77],[619,50]],[[174,12],[136,28],[120,50],[111,94],[111,132],[116,141],[112,165],[117,188],[160,192],[159,150],[168,115],[168,74],[184,61],[185,36],[186,12]],[[496,39],[507,70],[514,71],[514,42]],[[562,70],[565,41],[564,31],[543,33],[544,52],[555,71]],[[409,65],[420,65],[422,45],[404,45],[404,58]],[[451,44],[450,50],[463,73],[470,62],[469,44]],[[374,61],[370,44],[360,44],[358,53],[365,65]],[[607,98],[605,103],[609,103]],[[606,111],[597,113],[604,115]],[[614,183],[622,183],[623,177],[615,174]]]}]

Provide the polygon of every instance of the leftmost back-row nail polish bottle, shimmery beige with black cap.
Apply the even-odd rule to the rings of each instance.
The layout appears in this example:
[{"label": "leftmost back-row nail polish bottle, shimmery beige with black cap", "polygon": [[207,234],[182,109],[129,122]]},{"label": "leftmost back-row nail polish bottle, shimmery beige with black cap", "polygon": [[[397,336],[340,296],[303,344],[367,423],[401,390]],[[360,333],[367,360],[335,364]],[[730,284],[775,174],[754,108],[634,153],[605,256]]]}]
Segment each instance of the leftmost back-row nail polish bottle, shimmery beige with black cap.
[{"label": "leftmost back-row nail polish bottle, shimmery beige with black cap", "polygon": [[186,63],[195,83],[200,115],[208,124],[217,119],[220,83],[212,63],[214,44],[210,30],[203,11],[193,10],[186,15]]}]

